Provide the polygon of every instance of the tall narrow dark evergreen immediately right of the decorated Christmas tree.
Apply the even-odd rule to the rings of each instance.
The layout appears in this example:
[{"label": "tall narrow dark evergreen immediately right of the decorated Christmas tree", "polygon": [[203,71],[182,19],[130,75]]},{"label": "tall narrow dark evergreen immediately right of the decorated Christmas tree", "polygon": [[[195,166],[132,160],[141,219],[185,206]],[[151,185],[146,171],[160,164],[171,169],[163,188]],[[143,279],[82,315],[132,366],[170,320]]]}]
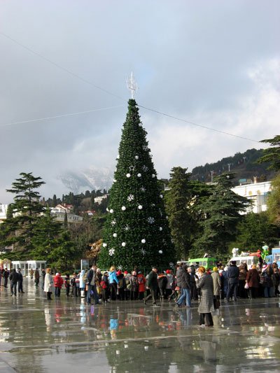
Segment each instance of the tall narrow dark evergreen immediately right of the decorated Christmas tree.
[{"label": "tall narrow dark evergreen immediately right of the decorated Christmas tree", "polygon": [[190,249],[190,174],[187,169],[174,167],[170,174],[169,190],[166,192],[166,209],[169,216],[169,227],[174,240],[176,258],[187,258]]}]

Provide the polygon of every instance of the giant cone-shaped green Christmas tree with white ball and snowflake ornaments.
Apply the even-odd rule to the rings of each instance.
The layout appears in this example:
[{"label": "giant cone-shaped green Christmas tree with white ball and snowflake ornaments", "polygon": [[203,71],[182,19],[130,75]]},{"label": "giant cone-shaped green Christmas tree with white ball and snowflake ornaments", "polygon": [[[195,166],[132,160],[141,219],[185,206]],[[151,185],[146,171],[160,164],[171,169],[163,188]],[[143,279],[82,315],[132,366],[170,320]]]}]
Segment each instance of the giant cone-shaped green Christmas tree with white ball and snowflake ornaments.
[{"label": "giant cone-shaped green Christmas tree with white ball and snowflake ornaments", "polygon": [[99,266],[170,267],[174,248],[146,130],[134,99],[128,101],[110,192]]}]

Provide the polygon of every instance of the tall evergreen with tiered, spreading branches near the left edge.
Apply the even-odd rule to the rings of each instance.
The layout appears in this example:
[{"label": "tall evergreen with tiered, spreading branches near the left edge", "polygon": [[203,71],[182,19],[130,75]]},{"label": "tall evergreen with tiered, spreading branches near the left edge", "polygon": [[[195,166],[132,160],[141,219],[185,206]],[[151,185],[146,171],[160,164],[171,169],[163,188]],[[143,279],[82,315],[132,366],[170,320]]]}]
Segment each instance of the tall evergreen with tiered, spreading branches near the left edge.
[{"label": "tall evergreen with tiered, spreading branches near the left edge", "polygon": [[43,212],[40,203],[40,195],[37,188],[45,184],[41,177],[35,177],[32,173],[22,172],[20,178],[15,179],[12,188],[7,192],[15,194],[13,202],[13,214],[9,214],[3,223],[6,244],[16,244],[15,251],[28,253],[31,250],[31,239],[38,216]]}]

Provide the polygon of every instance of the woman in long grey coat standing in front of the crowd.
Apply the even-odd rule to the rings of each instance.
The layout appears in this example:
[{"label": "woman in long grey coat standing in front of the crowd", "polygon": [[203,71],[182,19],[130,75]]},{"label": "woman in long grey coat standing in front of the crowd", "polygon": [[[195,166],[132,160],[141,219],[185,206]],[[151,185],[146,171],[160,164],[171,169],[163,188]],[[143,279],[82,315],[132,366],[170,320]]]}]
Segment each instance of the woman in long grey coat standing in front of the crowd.
[{"label": "woman in long grey coat standing in front of the crowd", "polygon": [[204,267],[198,269],[201,276],[197,288],[201,289],[201,301],[197,309],[200,313],[200,325],[213,326],[211,312],[214,312],[214,285],[211,274],[207,274]]}]

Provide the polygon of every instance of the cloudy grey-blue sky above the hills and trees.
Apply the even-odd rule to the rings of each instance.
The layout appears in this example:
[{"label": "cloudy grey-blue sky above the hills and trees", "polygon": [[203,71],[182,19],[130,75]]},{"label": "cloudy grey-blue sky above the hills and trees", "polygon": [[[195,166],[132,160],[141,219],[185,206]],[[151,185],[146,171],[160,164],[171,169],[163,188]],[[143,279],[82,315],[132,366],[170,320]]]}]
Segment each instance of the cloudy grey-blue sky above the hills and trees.
[{"label": "cloudy grey-blue sky above the hills and trees", "polygon": [[[130,71],[142,106],[256,141],[279,134],[279,14],[278,0],[1,1],[0,203],[22,171],[52,197],[66,171],[114,168]],[[160,177],[262,147],[140,113]]]}]

